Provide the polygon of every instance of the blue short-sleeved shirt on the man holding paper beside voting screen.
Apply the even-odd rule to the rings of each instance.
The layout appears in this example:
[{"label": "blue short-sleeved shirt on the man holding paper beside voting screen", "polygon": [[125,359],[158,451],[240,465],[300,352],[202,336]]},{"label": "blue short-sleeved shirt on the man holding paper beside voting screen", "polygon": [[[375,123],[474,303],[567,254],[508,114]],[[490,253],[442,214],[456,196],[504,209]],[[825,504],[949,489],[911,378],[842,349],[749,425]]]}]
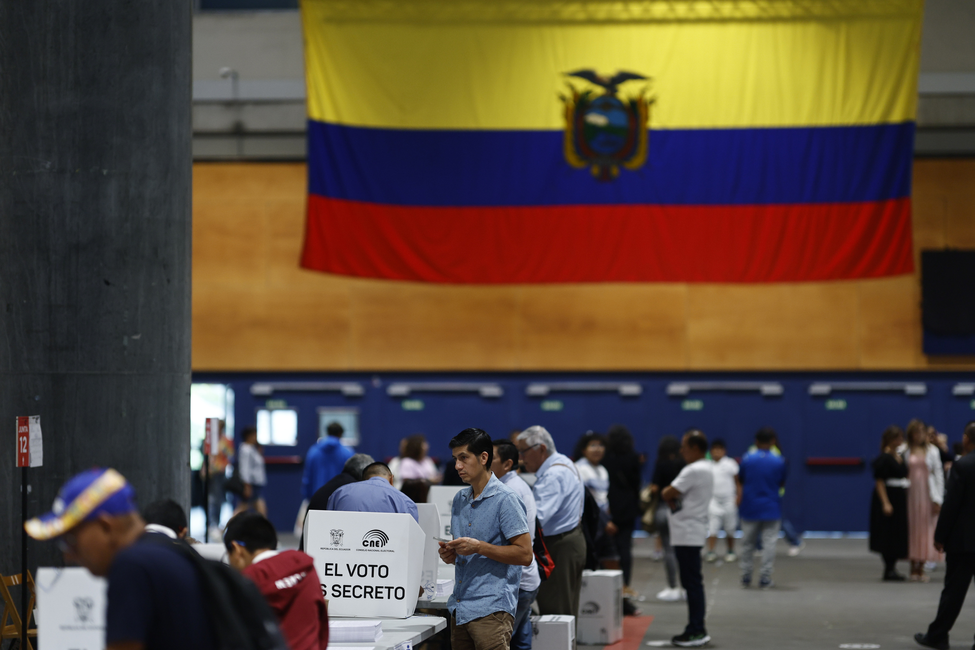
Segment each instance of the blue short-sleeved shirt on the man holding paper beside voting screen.
[{"label": "blue short-sleeved shirt on the man holding paper beside voting screen", "polygon": [[[522,498],[493,473],[477,499],[470,485],[457,492],[450,509],[450,532],[454,539],[471,537],[494,546],[528,532]],[[448,609],[464,625],[494,612],[515,615],[522,567],[502,564],[482,554],[457,555],[454,560],[453,593]]]}]

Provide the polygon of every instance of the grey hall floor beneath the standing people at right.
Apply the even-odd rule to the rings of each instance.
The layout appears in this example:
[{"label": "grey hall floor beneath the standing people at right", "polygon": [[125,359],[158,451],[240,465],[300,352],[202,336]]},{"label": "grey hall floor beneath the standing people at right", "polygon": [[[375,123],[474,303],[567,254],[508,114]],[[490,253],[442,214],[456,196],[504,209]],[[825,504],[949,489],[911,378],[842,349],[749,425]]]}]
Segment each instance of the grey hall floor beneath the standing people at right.
[{"label": "grey hall floor beneath the standing people at right", "polygon": [[[683,631],[686,603],[654,598],[666,586],[664,565],[649,558],[652,540],[634,542],[638,557],[633,587],[645,598],[639,603],[643,613],[655,617],[643,640],[669,639]],[[724,549],[723,540],[718,549]],[[807,540],[797,557],[787,556],[786,549],[779,542],[773,576],[776,586],[764,592],[739,587],[737,563],[704,565],[712,647],[918,647],[914,633],[926,631],[934,618],[944,565],[934,571],[928,584],[883,583],[879,580],[881,562],[867,550],[865,539]],[[907,573],[906,563],[898,570]],[[953,647],[971,647],[973,633],[975,595],[970,595],[952,631]]]}]

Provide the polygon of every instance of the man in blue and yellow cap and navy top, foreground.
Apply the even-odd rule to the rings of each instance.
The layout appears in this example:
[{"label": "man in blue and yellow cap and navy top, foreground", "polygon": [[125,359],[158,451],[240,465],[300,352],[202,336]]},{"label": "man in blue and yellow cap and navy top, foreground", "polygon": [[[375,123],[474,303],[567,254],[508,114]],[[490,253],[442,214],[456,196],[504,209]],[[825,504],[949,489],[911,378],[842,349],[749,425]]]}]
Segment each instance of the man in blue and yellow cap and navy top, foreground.
[{"label": "man in blue and yellow cap and navy top, foreground", "polygon": [[65,563],[108,579],[106,650],[215,649],[195,567],[168,537],[145,531],[136,491],[115,470],[71,478],[51,513],[23,525],[57,540]]}]

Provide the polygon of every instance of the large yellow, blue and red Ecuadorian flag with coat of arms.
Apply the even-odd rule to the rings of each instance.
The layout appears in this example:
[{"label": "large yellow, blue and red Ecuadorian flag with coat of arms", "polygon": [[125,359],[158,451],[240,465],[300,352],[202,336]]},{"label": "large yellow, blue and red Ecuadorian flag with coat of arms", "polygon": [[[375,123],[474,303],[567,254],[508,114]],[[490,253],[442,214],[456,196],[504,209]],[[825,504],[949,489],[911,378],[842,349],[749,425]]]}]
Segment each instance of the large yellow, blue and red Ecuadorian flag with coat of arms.
[{"label": "large yellow, blue and red Ecuadorian flag with coat of arms", "polygon": [[302,265],[909,273],[921,0],[302,0]]}]

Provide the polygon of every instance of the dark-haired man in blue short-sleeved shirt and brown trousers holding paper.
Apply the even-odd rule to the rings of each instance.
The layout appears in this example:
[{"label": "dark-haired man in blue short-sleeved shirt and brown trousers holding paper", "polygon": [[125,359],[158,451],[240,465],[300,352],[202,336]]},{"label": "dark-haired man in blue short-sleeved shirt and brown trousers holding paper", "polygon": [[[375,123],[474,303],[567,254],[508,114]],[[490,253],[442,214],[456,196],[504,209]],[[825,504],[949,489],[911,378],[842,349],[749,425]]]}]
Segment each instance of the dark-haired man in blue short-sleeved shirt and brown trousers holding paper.
[{"label": "dark-haired man in blue short-sleeved shirt and brown trousers holding paper", "polygon": [[454,564],[450,644],[454,650],[508,650],[522,567],[533,559],[525,504],[490,471],[494,447],[481,429],[450,440],[454,466],[470,485],[450,510],[451,542],[440,556]]}]

